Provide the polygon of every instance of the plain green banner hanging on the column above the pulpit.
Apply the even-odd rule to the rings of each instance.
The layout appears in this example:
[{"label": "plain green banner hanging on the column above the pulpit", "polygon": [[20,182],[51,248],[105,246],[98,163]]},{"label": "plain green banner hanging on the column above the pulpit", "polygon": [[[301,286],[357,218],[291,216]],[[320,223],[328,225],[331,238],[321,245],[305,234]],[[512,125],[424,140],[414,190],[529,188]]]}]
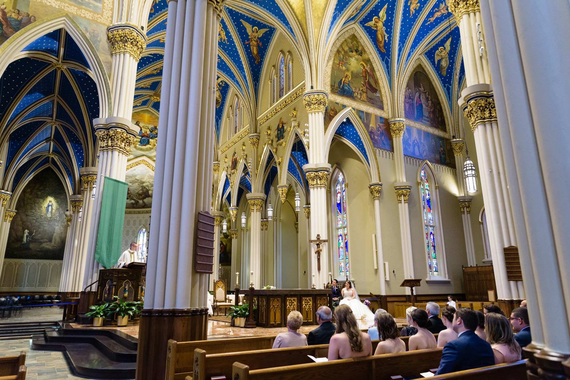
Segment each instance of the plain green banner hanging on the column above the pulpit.
[{"label": "plain green banner hanging on the column above the pulpit", "polygon": [[105,268],[116,265],[121,256],[128,187],[128,183],[111,177],[103,181],[95,259]]}]

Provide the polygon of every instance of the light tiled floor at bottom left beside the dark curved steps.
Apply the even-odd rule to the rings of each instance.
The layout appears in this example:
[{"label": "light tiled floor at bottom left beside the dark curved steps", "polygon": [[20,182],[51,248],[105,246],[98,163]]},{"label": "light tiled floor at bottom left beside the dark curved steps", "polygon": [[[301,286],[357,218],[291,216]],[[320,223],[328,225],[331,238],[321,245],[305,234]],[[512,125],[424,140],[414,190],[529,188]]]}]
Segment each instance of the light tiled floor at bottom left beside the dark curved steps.
[{"label": "light tiled floor at bottom left beside the dark curved steps", "polygon": [[26,380],[88,379],[72,374],[63,352],[31,348],[31,339],[0,341],[0,357],[17,356],[26,351]]}]

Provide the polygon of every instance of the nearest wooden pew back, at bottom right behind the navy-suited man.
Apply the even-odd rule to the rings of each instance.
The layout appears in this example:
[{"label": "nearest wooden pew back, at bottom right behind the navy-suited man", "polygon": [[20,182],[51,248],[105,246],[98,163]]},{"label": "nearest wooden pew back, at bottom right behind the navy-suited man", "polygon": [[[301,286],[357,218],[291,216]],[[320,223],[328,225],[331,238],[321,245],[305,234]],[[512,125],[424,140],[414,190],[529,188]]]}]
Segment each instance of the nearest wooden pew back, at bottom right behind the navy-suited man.
[{"label": "nearest wooden pew back, at bottom right behind the navy-suited man", "polygon": [[526,360],[437,375],[430,379],[519,380],[527,378]]}]

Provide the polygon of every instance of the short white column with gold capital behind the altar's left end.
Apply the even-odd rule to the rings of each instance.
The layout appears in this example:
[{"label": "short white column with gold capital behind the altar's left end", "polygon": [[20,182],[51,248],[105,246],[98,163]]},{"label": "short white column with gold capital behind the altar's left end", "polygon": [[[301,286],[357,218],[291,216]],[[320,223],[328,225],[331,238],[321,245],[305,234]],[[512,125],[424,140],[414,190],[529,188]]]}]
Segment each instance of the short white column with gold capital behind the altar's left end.
[{"label": "short white column with gold capital behind the altar's left end", "polygon": [[265,204],[264,193],[248,193],[246,194],[247,201],[250,206],[251,218],[251,250],[250,250],[250,272],[253,272],[253,277],[250,273],[246,273],[249,282],[254,287],[259,289],[261,284],[261,211]]}]

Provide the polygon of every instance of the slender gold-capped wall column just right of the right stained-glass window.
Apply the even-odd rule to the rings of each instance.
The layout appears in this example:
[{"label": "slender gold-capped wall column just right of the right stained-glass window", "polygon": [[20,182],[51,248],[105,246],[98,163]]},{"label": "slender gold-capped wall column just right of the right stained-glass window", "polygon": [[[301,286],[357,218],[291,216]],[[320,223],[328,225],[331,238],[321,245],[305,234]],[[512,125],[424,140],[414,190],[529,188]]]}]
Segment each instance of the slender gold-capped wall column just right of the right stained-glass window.
[{"label": "slender gold-capped wall column just right of the right stained-glass window", "polygon": [[467,194],[465,184],[465,175],[463,174],[463,149],[465,148],[465,140],[451,140],[451,148],[455,156],[455,166],[457,167],[457,200],[459,201],[459,209],[461,210],[461,218],[463,221],[463,234],[465,235],[465,249],[467,252],[467,265],[475,266],[475,245],[473,243],[473,231],[471,230],[471,201],[473,197]]}]

